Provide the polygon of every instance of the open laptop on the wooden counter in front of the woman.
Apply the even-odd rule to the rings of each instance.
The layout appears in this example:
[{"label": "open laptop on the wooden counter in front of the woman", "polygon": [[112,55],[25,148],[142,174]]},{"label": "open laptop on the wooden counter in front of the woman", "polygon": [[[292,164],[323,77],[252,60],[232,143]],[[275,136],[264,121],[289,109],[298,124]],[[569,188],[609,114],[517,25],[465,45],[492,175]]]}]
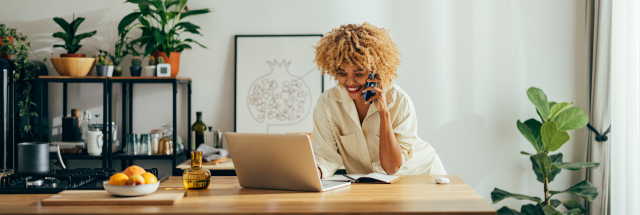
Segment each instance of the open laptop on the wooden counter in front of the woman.
[{"label": "open laptop on the wooden counter in front of the woman", "polygon": [[307,135],[226,132],[225,138],[244,188],[322,192],[351,185],[318,177]]}]

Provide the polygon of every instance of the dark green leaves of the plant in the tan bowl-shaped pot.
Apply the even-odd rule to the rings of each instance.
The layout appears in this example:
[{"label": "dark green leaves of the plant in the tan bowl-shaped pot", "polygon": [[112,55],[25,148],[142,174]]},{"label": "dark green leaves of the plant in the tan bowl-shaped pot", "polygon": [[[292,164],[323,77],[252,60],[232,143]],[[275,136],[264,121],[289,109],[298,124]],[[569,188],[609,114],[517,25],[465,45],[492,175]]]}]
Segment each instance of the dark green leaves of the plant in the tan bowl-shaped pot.
[{"label": "dark green leaves of the plant in the tan bowl-shaped pot", "polygon": [[74,15],[74,20],[71,23],[68,23],[60,17],[53,18],[53,21],[58,23],[58,25],[60,25],[60,27],[64,29],[64,32],[56,32],[53,34],[53,37],[64,40],[64,45],[56,44],[53,45],[53,47],[64,48],[67,50],[67,54],[75,54],[76,52],[78,52],[78,50],[80,50],[80,48],[82,47],[82,45],[80,45],[80,41],[85,38],[92,37],[97,32],[92,31],[76,35],[78,27],[84,21],[84,17],[78,17],[77,19],[75,19]]}]

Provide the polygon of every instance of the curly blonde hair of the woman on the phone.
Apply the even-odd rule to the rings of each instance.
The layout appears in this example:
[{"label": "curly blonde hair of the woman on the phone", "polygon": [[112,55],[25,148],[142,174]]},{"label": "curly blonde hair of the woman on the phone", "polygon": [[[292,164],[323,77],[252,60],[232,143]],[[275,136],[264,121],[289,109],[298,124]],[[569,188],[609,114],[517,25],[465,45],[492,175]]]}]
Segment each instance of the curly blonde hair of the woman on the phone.
[{"label": "curly blonde hair of the woman on the phone", "polygon": [[343,63],[375,72],[384,88],[389,88],[398,77],[398,47],[387,30],[367,22],[341,25],[326,33],[314,48],[318,70],[335,80]]}]

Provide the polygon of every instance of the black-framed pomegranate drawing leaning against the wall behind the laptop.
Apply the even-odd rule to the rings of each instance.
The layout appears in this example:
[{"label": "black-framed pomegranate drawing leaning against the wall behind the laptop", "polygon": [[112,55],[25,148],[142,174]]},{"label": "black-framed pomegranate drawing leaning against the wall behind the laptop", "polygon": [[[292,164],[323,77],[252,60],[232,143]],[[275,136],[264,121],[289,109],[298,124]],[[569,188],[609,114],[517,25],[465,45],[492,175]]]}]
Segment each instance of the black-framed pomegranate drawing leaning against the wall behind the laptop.
[{"label": "black-framed pomegranate drawing leaning against the wall behind the laptop", "polygon": [[307,133],[324,80],[313,46],[322,34],[236,35],[235,131]]}]

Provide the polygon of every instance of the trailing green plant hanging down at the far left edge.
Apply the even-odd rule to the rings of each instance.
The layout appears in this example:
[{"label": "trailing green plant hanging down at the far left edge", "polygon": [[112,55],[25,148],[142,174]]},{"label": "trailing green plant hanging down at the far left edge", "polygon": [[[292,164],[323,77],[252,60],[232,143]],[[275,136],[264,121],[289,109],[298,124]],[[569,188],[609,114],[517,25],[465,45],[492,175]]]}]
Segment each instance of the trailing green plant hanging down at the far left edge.
[{"label": "trailing green plant hanging down at the far left edge", "polygon": [[[27,120],[26,122],[19,121],[19,123],[24,123],[21,124],[18,129],[20,131],[20,137],[30,137],[31,141],[38,141],[38,131],[31,126],[31,121],[38,117],[38,114],[32,110],[33,107],[36,106],[36,103],[33,101],[33,84],[37,76],[36,71],[40,68],[29,60],[31,44],[27,42],[27,36],[23,36],[22,33],[17,32],[15,28],[9,28],[0,23],[0,38],[3,38],[0,50],[6,54],[13,55],[14,58],[13,65],[15,67],[15,74],[13,81],[21,85],[20,89],[18,89],[22,95],[17,104],[18,115],[20,117],[27,116]],[[12,40],[8,38],[12,38]],[[44,58],[43,61],[46,62],[47,59]]]}]

